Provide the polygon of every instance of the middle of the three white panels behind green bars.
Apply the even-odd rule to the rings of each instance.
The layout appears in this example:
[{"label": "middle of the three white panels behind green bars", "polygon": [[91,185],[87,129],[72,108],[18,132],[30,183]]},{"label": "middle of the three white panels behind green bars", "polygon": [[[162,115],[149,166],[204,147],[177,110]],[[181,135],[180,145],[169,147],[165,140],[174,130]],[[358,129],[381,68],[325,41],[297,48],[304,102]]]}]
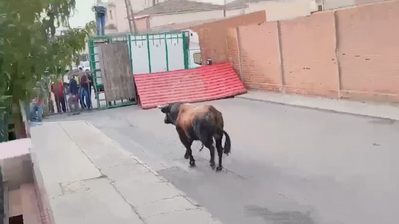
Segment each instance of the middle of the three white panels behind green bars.
[{"label": "middle of the three white panels behind green bars", "polygon": [[151,73],[167,71],[165,34],[148,36],[150,49]]}]

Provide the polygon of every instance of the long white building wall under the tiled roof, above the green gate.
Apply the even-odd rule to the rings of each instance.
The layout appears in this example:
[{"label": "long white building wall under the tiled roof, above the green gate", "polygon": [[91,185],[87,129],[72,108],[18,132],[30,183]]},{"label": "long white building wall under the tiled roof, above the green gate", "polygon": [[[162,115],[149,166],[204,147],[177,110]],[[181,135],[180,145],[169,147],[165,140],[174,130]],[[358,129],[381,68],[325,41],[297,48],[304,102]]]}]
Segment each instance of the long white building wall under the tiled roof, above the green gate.
[{"label": "long white building wall under the tiled roof, above the green gate", "polygon": [[151,27],[164,26],[171,23],[191,22],[197,20],[223,18],[223,10],[193,11],[175,14],[153,15]]}]

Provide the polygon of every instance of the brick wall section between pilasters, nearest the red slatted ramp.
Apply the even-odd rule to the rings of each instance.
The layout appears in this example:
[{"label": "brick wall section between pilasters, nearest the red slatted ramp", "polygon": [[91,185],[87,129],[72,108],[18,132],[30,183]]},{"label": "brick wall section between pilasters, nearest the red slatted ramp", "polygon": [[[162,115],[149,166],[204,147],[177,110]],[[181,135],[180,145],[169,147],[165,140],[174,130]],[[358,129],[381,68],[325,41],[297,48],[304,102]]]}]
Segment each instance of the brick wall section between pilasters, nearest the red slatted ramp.
[{"label": "brick wall section between pilasters, nearest the red slatted ramp", "polygon": [[244,85],[251,90],[281,91],[277,22],[238,29]]}]

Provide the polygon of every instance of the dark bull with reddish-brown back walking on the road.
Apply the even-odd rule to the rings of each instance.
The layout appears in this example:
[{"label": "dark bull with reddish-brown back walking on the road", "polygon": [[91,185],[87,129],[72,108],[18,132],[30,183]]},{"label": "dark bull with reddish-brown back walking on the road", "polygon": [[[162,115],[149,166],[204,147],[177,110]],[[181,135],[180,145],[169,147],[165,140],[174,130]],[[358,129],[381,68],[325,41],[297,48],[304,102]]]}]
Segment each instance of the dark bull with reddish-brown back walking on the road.
[{"label": "dark bull with reddish-brown back walking on the road", "polygon": [[[173,103],[165,106],[158,106],[161,112],[165,113],[165,123],[174,124],[179,134],[179,138],[186,147],[184,157],[190,158],[190,166],[195,166],[191,145],[194,140],[200,140],[202,147],[205,146],[210,152],[210,166],[215,167],[215,149],[213,138],[216,142],[219,165],[216,171],[222,170],[223,152],[228,155],[231,149],[231,141],[227,132],[223,129],[223,116],[213,106],[195,107],[190,104]],[[226,136],[224,147],[221,141],[223,134]],[[202,149],[202,148],[201,148]]]}]

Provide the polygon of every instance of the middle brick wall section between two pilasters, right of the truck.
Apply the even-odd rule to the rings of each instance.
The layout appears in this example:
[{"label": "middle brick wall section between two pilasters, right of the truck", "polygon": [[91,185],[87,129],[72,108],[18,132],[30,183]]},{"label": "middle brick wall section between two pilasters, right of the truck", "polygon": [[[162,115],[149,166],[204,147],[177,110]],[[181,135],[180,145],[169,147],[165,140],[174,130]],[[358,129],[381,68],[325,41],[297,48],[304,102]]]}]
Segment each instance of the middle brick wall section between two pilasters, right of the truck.
[{"label": "middle brick wall section between two pilasters, right of the truck", "polygon": [[334,12],[280,23],[286,93],[338,96]]}]

